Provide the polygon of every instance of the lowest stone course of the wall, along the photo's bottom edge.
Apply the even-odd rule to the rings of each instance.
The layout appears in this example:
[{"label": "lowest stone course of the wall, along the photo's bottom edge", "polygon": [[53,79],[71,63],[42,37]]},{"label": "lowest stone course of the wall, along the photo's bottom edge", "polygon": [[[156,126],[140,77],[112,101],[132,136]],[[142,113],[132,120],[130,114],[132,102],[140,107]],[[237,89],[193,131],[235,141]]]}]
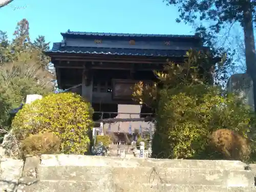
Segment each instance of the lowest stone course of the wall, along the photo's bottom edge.
[{"label": "lowest stone course of the wall, along the photo's bottom edge", "polygon": [[256,187],[223,187],[218,185],[170,185],[151,183],[115,183],[89,181],[46,181],[41,180],[33,186],[22,187],[26,192],[256,192]]}]

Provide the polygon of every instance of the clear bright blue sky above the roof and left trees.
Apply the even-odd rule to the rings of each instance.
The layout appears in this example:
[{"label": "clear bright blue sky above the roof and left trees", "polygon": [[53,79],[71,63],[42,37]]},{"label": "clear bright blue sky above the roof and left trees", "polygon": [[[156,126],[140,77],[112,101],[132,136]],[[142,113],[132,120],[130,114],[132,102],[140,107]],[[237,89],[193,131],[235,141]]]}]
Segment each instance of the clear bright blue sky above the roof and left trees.
[{"label": "clear bright blue sky above the roof and left trees", "polygon": [[[71,3],[75,2],[75,3]],[[14,0],[0,9],[0,30],[9,38],[17,22],[29,21],[30,37],[45,35],[47,41],[61,40],[60,32],[116,32],[150,34],[194,34],[185,24],[177,24],[178,8],[162,0]]]}]

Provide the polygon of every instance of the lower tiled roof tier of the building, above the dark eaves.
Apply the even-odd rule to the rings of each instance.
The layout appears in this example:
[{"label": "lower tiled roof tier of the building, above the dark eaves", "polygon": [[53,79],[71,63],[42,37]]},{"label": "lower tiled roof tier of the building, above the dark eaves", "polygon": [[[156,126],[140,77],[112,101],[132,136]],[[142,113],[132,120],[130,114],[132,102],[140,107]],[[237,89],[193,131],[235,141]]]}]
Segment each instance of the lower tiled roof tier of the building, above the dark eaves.
[{"label": "lower tiled roof tier of the building, above the dark eaves", "polygon": [[131,56],[162,56],[180,57],[186,50],[155,50],[155,49],[126,49],[126,48],[99,48],[99,47],[61,47],[54,43],[51,51],[46,53],[84,53],[104,55],[131,55]]}]

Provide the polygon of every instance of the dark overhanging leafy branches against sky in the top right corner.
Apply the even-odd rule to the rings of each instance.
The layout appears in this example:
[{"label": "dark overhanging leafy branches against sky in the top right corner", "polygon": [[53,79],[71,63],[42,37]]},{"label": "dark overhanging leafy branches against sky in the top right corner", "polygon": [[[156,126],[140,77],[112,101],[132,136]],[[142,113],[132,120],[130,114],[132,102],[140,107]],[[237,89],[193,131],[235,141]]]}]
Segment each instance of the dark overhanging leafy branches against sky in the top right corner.
[{"label": "dark overhanging leafy branches against sky in the top right corner", "polygon": [[[183,20],[186,24],[194,23],[195,20],[212,20],[214,23],[211,28],[215,32],[220,32],[225,23],[232,23],[237,21],[239,23],[244,22],[244,11],[248,9],[249,3],[253,13],[255,13],[256,4],[254,1],[228,1],[228,0],[165,0],[168,5],[179,6],[179,18],[176,22],[180,23]],[[256,17],[253,18],[254,21]]]}]

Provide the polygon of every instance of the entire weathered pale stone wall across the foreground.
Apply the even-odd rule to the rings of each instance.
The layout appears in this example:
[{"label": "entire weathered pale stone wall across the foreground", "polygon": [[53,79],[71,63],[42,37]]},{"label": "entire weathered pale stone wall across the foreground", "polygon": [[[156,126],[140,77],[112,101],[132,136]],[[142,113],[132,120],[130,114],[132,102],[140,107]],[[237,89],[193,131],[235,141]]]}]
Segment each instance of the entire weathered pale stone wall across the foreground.
[{"label": "entire weathered pale stone wall across the foreground", "polygon": [[0,162],[0,191],[256,192],[241,161],[42,155]]}]

